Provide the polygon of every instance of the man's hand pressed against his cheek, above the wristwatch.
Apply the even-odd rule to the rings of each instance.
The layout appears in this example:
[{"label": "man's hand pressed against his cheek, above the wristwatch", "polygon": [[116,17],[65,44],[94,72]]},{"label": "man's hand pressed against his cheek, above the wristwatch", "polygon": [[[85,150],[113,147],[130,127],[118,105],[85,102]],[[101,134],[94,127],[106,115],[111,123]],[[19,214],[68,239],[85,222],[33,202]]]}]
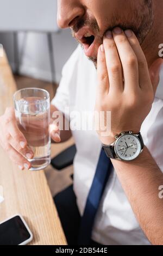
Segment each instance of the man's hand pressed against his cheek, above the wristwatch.
[{"label": "man's hand pressed against his cheek, above the wristwatch", "polygon": [[152,107],[161,63],[158,59],[152,68],[152,80],[135,34],[121,28],[106,32],[98,50],[95,108],[98,112],[111,111],[110,134],[102,136],[101,129],[97,131],[103,144],[112,143],[122,131],[140,131]]}]

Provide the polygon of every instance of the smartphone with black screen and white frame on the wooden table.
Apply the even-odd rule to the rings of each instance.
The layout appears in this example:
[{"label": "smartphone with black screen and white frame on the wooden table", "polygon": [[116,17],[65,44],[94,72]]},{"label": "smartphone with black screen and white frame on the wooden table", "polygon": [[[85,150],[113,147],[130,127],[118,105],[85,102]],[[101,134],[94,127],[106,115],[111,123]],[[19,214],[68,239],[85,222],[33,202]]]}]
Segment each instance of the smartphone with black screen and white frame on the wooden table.
[{"label": "smartphone with black screen and white frame on the wooden table", "polygon": [[32,239],[33,234],[21,215],[0,223],[0,245],[27,245]]}]

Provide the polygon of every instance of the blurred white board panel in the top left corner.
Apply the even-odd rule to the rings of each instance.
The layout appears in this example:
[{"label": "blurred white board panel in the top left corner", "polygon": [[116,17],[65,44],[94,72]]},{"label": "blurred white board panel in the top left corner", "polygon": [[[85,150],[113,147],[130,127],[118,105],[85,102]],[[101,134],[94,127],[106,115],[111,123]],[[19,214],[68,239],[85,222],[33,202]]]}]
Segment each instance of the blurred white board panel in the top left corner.
[{"label": "blurred white board panel in the top left corner", "polygon": [[58,31],[56,0],[0,0],[0,31]]}]

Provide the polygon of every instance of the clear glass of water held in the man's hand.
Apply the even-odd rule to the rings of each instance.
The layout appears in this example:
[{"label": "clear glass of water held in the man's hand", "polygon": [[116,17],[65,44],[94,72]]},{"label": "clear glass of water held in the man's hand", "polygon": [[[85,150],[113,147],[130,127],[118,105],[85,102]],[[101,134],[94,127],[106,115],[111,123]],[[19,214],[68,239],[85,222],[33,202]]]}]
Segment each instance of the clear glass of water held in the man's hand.
[{"label": "clear glass of water held in the man's hand", "polygon": [[41,170],[51,162],[51,137],[49,135],[50,97],[46,90],[25,88],[14,94],[17,125],[33,150],[28,159],[30,170]]}]

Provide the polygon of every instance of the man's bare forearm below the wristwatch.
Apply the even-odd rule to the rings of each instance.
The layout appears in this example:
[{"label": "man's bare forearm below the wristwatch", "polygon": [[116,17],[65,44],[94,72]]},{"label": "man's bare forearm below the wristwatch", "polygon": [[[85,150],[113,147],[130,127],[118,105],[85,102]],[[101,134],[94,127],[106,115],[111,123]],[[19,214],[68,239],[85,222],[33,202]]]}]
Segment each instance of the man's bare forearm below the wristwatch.
[{"label": "man's bare forearm below the wristwatch", "polygon": [[149,241],[163,245],[163,199],[159,198],[163,174],[148,149],[134,161],[112,160],[112,164]]}]

